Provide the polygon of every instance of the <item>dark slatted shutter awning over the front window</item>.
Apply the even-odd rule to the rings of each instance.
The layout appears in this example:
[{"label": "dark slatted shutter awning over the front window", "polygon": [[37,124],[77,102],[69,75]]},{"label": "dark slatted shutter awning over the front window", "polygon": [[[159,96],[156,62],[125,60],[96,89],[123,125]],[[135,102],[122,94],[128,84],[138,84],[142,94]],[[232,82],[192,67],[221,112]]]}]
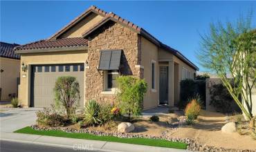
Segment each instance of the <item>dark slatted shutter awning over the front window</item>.
[{"label": "dark slatted shutter awning over the front window", "polygon": [[102,50],[98,70],[118,70],[122,50]]}]

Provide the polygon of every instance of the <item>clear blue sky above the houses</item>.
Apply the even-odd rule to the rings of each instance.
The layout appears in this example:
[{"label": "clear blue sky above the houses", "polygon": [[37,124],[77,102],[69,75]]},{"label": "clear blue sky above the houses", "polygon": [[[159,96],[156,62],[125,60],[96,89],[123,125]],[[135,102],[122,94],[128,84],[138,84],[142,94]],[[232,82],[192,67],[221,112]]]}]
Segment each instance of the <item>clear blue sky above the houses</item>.
[{"label": "clear blue sky above the houses", "polygon": [[0,40],[46,39],[92,5],[136,23],[201,70],[195,52],[211,22],[235,21],[253,9],[256,27],[256,1],[1,1]]}]

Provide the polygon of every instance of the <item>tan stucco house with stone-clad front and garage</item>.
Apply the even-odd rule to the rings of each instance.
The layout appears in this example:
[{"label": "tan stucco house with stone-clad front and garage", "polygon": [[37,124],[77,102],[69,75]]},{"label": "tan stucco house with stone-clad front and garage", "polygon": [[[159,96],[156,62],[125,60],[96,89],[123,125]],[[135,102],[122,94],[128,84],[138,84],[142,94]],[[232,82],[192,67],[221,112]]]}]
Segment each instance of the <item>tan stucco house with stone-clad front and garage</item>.
[{"label": "tan stucco house with stone-clad front and garage", "polygon": [[145,79],[148,91],[143,108],[179,102],[179,82],[199,70],[178,50],[113,12],[95,6],[48,39],[18,46],[21,55],[19,99],[24,106],[53,103],[55,79],[77,77],[80,105],[89,99],[114,102],[116,77]]}]

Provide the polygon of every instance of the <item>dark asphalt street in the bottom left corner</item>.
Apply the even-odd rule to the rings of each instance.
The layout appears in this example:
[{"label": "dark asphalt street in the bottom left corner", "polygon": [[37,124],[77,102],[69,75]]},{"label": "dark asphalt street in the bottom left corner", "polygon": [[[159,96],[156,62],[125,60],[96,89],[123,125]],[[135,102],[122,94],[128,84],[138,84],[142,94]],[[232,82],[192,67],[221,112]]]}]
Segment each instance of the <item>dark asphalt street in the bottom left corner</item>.
[{"label": "dark asphalt street in the bottom left corner", "polygon": [[[80,149],[79,149],[80,148]],[[89,147],[90,148],[90,147]],[[70,151],[86,151],[91,152],[93,150],[88,150],[86,146],[82,148],[79,145],[74,146],[73,149],[71,148],[64,148],[58,146],[46,146],[46,145],[39,145],[39,144],[28,144],[28,143],[20,143],[20,142],[9,142],[1,140],[0,145],[1,152],[70,152]]]}]

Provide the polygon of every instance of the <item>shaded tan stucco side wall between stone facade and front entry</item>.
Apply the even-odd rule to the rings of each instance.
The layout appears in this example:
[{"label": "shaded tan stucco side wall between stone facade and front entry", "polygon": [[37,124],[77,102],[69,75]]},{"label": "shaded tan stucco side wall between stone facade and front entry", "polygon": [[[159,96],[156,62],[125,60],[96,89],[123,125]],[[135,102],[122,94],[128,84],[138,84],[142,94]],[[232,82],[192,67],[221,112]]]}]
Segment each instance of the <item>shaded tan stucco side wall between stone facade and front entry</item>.
[{"label": "shaded tan stucco side wall between stone facade and front entry", "polygon": [[[152,60],[156,61],[156,91],[152,91]],[[144,97],[144,109],[158,106],[159,95],[159,66],[158,66],[158,47],[144,37],[141,38],[141,65],[144,66],[144,79],[148,89]]]}]

